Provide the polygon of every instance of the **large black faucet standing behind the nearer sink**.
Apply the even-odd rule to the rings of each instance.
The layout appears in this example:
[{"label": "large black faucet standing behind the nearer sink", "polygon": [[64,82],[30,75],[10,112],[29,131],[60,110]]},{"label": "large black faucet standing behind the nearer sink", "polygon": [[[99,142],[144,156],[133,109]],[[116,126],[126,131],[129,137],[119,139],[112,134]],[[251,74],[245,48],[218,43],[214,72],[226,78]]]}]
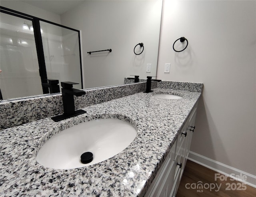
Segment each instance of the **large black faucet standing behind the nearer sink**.
[{"label": "large black faucet standing behind the nearer sink", "polygon": [[73,88],[74,82],[61,82],[61,92],[62,92],[62,101],[64,113],[61,115],[56,115],[52,117],[55,122],[74,117],[86,113],[82,109],[75,110],[74,96],[82,96],[85,94],[82,90],[77,90]]}]

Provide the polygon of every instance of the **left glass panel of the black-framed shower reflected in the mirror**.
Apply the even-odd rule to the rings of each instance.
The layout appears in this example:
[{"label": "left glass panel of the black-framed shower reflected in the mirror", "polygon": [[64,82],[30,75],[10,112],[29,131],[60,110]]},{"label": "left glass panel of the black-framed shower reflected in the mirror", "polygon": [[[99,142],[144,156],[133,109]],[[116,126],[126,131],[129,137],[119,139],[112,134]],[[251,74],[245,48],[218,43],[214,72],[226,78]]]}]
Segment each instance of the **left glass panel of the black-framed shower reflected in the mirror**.
[{"label": "left glass panel of the black-framed shower reflected in the mirror", "polygon": [[24,19],[0,14],[0,88],[3,99],[43,94],[34,31],[28,27],[23,29]]}]

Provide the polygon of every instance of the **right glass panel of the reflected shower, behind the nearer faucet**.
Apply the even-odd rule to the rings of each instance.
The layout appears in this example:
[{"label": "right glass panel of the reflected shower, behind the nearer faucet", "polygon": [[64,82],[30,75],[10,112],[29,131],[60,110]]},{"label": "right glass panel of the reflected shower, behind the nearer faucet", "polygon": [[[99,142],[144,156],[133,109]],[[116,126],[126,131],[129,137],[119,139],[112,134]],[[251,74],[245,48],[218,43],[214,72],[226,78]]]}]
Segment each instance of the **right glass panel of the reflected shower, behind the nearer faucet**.
[{"label": "right glass panel of the reflected shower, behind the nearer faucet", "polygon": [[81,89],[78,33],[42,21],[40,27],[44,30],[42,42],[47,77],[59,82],[78,82],[80,84],[74,88]]}]

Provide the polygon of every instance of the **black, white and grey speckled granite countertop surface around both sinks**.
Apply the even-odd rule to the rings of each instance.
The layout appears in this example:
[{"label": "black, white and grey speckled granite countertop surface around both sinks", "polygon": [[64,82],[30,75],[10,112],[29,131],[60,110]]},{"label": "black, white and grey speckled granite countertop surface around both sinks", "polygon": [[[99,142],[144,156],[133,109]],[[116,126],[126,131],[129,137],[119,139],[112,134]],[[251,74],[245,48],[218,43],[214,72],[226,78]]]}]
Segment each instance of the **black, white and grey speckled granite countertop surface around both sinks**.
[{"label": "black, white and grey speckled granite countertop surface around both sinks", "polygon": [[[152,98],[173,93],[182,99]],[[200,92],[154,89],[83,108],[60,122],[41,119],[0,131],[1,196],[143,196],[170,151]],[[49,136],[95,117],[126,117],[137,136],[122,152],[77,169],[50,169],[36,162]]]}]

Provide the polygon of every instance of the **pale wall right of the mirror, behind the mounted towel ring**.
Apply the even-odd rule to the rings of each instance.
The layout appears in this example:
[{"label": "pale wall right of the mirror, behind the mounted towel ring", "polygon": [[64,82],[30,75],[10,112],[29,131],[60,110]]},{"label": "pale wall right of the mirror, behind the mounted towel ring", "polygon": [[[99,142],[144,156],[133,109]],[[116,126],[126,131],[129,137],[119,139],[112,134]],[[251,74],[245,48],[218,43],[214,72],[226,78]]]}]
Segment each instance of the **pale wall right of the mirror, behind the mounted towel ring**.
[{"label": "pale wall right of the mirror, behind the mounted towel ring", "polygon": [[204,83],[191,150],[256,175],[256,1],[164,0],[157,75]]}]

